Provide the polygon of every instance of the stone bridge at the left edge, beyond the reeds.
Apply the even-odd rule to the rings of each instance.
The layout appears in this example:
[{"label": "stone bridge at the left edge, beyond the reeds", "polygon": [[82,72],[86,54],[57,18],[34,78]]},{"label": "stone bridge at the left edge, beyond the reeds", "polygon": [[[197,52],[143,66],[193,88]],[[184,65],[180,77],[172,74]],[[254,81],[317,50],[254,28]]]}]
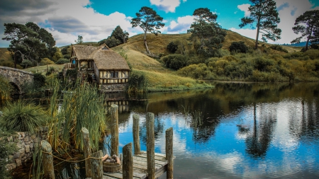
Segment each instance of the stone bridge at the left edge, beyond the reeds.
[{"label": "stone bridge at the left edge, beyond the reeds", "polygon": [[33,82],[33,74],[21,69],[0,66],[0,75],[6,77],[15,88],[15,93],[22,94],[23,85]]}]

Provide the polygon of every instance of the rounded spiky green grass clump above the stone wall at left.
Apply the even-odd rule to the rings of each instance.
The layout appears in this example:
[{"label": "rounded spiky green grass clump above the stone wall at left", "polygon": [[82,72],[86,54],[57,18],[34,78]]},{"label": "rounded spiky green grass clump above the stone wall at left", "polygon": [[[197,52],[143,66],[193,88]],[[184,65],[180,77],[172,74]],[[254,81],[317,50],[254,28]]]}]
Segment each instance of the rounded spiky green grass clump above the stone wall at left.
[{"label": "rounded spiky green grass clump above the stone wall at left", "polygon": [[40,105],[26,103],[23,100],[8,102],[1,120],[6,129],[19,132],[35,132],[37,127],[45,125],[47,115]]}]

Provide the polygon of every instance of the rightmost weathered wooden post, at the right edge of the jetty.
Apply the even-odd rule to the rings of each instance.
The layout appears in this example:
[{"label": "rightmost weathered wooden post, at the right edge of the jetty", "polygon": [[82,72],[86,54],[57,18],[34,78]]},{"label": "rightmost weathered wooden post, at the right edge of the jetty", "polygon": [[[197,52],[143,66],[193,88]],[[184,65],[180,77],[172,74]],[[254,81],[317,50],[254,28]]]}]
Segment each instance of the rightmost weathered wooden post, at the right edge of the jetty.
[{"label": "rightmost weathered wooden post, at the right edge of the jetty", "polygon": [[167,173],[166,178],[173,178],[174,156],[173,156],[173,127],[169,128],[165,132],[166,138],[166,160],[167,160]]}]

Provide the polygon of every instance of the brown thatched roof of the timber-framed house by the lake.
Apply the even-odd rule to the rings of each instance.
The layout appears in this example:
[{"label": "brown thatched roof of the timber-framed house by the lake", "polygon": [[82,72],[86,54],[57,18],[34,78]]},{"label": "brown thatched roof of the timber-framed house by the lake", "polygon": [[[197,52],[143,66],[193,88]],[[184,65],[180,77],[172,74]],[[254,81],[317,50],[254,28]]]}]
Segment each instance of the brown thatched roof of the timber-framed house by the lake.
[{"label": "brown thatched roof of the timber-framed house by the lake", "polygon": [[74,45],[73,50],[78,60],[92,59],[99,70],[130,70],[126,60],[105,44],[99,47]]}]

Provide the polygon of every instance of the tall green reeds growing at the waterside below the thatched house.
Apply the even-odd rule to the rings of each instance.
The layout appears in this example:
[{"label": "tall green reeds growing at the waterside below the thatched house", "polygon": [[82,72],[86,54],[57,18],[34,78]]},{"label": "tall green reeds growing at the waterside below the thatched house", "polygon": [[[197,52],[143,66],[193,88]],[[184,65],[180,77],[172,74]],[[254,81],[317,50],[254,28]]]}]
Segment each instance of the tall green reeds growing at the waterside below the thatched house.
[{"label": "tall green reeds growing at the waterside below the thatched house", "polygon": [[53,83],[50,98],[50,122],[48,141],[57,150],[83,149],[81,130],[86,127],[90,134],[93,150],[99,149],[99,140],[106,129],[105,98],[98,93],[96,86],[77,81],[75,86],[65,86],[60,93],[62,82]]}]

